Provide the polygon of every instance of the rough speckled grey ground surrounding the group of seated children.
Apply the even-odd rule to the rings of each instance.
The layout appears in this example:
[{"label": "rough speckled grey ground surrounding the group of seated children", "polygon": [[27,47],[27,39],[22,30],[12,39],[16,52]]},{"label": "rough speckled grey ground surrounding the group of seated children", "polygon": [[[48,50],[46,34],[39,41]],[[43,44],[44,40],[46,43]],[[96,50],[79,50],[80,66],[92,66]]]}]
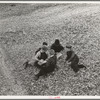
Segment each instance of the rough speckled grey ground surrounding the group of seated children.
[{"label": "rough speckled grey ground surrounding the group of seated children", "polygon": [[[0,95],[100,95],[100,4],[0,4]],[[81,69],[75,77],[64,64],[54,75],[34,80],[24,69],[42,42],[58,38],[73,46]]]}]

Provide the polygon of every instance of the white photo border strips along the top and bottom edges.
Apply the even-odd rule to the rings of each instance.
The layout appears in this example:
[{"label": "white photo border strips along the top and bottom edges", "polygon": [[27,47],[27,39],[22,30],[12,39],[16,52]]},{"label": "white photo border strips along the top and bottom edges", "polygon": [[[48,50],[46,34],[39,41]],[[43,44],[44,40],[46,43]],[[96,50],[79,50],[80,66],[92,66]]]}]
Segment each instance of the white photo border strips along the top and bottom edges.
[{"label": "white photo border strips along the top and bottom edges", "polygon": [[[0,1],[0,3],[100,3],[100,1]],[[95,100],[100,96],[0,96],[0,99],[79,99],[79,100]]]}]

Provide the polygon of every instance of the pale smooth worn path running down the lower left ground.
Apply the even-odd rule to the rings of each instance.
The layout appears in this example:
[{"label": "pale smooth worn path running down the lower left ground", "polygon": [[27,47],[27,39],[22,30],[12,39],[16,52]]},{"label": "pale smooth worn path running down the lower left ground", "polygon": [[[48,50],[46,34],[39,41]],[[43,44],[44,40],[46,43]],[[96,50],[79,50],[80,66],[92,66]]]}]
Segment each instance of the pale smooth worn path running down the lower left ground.
[{"label": "pale smooth worn path running down the lower left ground", "polygon": [[14,78],[12,71],[14,70],[13,64],[9,62],[7,54],[0,45],[0,70],[6,78],[7,84],[9,85],[8,95],[25,95],[27,94],[26,90],[22,88],[21,82]]}]

